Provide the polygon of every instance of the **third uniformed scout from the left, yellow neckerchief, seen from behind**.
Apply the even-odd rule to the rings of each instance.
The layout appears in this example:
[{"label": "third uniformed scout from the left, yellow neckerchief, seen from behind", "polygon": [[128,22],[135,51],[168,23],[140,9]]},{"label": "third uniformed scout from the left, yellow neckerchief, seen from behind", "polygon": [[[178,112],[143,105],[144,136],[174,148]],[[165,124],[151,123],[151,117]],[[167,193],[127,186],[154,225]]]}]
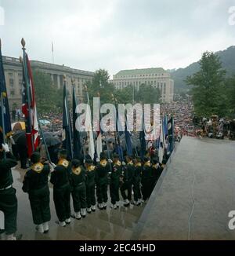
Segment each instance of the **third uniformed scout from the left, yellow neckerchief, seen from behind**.
[{"label": "third uniformed scout from the left, yellow neckerchief, seen from behind", "polygon": [[67,151],[61,150],[58,154],[59,162],[51,175],[56,214],[59,218],[59,225],[62,227],[71,223],[71,186],[69,183],[71,163],[66,158]]}]

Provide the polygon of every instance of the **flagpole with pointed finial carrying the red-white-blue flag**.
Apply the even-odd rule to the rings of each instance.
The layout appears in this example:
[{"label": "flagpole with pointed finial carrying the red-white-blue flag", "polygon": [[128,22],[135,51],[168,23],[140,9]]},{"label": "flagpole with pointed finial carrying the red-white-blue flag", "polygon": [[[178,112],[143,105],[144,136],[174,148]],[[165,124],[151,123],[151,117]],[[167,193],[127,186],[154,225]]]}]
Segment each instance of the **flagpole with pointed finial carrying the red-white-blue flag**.
[{"label": "flagpole with pointed finial carrying the red-white-blue flag", "polygon": [[28,107],[28,112],[29,112],[29,126],[30,126],[30,133],[31,133],[31,146],[32,146],[32,152],[34,152],[34,139],[32,136],[32,120],[31,120],[31,101],[30,101],[30,90],[29,90],[29,78],[27,75],[27,61],[26,61],[26,48],[25,48],[25,41],[24,38],[21,39],[21,45],[23,46],[23,60],[22,60],[22,64],[23,64],[23,68],[24,68],[24,77],[25,77],[25,86],[26,86],[26,94],[27,94],[27,107]]}]

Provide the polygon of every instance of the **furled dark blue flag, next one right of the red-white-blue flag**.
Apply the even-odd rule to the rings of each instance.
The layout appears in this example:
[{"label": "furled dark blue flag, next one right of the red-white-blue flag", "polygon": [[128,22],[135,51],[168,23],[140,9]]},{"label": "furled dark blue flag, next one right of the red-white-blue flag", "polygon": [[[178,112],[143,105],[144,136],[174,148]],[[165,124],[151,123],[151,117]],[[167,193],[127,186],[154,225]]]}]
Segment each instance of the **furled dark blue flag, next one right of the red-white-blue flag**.
[{"label": "furled dark blue flag, next one right of the red-white-blue flag", "polygon": [[73,158],[72,150],[72,137],[71,137],[71,118],[67,102],[67,90],[66,82],[63,84],[63,148],[67,150],[67,155],[69,159]]}]

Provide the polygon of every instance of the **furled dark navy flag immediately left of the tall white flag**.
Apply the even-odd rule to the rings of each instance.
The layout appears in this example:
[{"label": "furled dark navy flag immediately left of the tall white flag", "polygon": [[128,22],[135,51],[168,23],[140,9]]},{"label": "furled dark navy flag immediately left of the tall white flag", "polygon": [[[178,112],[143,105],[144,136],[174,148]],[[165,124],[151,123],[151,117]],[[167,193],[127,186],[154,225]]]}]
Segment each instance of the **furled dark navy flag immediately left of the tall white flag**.
[{"label": "furled dark navy flag immediately left of the tall white flag", "polygon": [[74,130],[74,155],[78,157],[78,159],[81,159],[81,138],[80,133],[76,129],[76,120],[78,119],[78,113],[76,113],[78,102],[76,100],[76,95],[73,87],[73,130]]}]

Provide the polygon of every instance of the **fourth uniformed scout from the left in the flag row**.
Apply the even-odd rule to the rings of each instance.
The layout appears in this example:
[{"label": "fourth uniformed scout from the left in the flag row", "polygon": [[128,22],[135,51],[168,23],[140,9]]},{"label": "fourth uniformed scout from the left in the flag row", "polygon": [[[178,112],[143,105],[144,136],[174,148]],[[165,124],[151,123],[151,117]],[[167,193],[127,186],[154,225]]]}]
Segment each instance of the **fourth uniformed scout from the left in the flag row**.
[{"label": "fourth uniformed scout from the left in the flag row", "polygon": [[81,211],[86,208],[86,191],[85,191],[85,169],[81,166],[79,160],[72,161],[72,174],[70,176],[71,193],[74,203],[75,218],[81,219]]}]

